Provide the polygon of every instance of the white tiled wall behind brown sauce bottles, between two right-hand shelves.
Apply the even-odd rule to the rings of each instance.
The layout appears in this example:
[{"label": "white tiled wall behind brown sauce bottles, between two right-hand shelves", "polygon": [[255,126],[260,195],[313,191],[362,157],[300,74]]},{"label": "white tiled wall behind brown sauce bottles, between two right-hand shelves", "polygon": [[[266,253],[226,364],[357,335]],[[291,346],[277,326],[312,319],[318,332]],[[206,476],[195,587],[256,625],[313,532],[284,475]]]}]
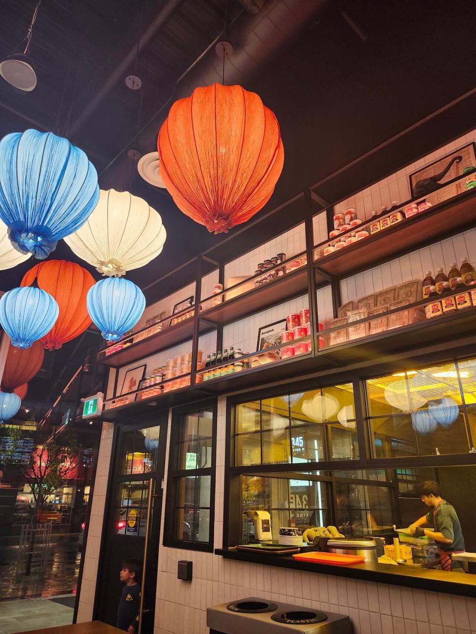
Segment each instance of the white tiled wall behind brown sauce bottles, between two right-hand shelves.
[{"label": "white tiled wall behind brown sauce bottles, between two right-hand shelves", "polygon": [[341,280],[341,302],[345,304],[405,281],[423,280],[427,271],[432,271],[434,276],[440,266],[447,273],[453,262],[457,262],[459,266],[462,257],[467,257],[476,266],[475,229],[458,233],[452,238],[435,242],[429,247]]}]

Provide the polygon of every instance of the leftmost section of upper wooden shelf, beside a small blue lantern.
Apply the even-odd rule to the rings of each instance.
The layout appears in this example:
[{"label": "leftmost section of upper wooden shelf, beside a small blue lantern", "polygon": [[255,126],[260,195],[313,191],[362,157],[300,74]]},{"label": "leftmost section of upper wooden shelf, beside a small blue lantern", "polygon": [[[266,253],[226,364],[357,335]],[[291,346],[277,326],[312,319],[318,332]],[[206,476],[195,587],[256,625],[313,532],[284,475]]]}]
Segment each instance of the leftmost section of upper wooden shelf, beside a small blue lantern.
[{"label": "leftmost section of upper wooden shelf, beside a small blue lantern", "polygon": [[[199,328],[200,334],[213,330],[211,326],[204,322],[199,324]],[[191,340],[193,334],[194,318],[190,317],[190,319],[182,321],[182,323],[165,328],[165,330],[161,330],[161,332],[157,332],[151,337],[124,347],[116,353],[109,354],[109,356],[103,356],[101,351],[98,353],[98,363],[108,365],[111,368],[119,368],[128,363],[133,363],[138,359],[143,359],[161,350],[175,346],[176,344],[180,344],[182,341],[187,341],[187,339]],[[190,349],[192,349],[192,341],[190,341]]]}]

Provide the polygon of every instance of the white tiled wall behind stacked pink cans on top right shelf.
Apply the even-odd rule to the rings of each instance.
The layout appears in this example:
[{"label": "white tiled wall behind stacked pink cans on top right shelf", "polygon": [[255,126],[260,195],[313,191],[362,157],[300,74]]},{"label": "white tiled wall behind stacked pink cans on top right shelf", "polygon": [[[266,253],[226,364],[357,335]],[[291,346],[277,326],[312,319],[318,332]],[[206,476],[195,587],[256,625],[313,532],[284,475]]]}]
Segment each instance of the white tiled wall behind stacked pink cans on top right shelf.
[{"label": "white tiled wall behind stacked pink cans on top right shelf", "polygon": [[[423,159],[406,165],[398,172],[390,174],[387,178],[383,178],[370,187],[342,200],[337,205],[334,205],[334,213],[344,211],[348,207],[355,207],[357,217],[367,220],[372,217],[374,209],[380,212],[382,205],[387,205],[387,208],[390,209],[393,201],[396,201],[397,204],[403,204],[411,198],[409,174],[413,174],[413,172],[430,165],[435,160],[441,159],[451,152],[456,152],[459,148],[468,145],[468,143],[473,143],[473,141],[476,141],[476,129],[459,137],[456,141],[447,143],[447,145],[426,155]],[[314,217],[314,243],[324,242],[324,240],[327,240],[325,213]]]}]

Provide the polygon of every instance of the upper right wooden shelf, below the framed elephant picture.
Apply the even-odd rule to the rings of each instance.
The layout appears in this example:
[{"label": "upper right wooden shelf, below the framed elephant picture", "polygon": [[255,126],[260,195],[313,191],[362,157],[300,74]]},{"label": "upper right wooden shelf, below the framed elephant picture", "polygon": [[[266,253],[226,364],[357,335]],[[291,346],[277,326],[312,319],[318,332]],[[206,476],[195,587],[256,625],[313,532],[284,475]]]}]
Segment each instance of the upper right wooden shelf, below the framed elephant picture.
[{"label": "upper right wooden shelf, below the framed elephant picture", "polygon": [[370,266],[447,238],[476,223],[476,190],[434,205],[429,210],[378,231],[344,249],[314,261],[317,275],[334,278],[354,275]]}]

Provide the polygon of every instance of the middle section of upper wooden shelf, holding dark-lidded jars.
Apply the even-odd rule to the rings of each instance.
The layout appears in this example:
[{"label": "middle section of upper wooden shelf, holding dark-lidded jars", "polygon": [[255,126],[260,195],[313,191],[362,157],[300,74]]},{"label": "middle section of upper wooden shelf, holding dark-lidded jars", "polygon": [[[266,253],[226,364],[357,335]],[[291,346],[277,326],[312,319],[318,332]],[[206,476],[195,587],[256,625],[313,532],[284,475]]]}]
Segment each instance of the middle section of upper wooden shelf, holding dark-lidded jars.
[{"label": "middle section of upper wooden shelf, holding dark-lidded jars", "polygon": [[[226,295],[227,291],[223,291]],[[228,301],[223,301],[217,306],[212,306],[200,313],[201,320],[207,320],[216,326],[232,323],[250,314],[265,310],[269,306],[279,304],[291,297],[307,293],[307,266],[286,273],[274,281],[263,286],[251,288],[241,295],[237,295]]]}]

